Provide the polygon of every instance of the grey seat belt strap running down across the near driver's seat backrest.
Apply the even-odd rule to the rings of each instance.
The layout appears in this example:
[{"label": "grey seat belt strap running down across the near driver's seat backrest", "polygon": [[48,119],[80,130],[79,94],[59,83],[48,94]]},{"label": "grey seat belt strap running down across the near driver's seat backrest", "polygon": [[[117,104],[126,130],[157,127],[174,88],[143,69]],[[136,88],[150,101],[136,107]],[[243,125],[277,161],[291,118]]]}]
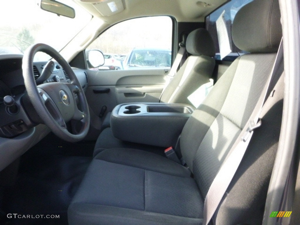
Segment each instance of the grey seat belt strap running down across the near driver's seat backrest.
[{"label": "grey seat belt strap running down across the near driver's seat backrest", "polygon": [[238,169],[239,164],[241,163],[241,160],[253,135],[253,131],[261,125],[260,116],[262,107],[264,106],[269,93],[273,90],[275,84],[277,83],[280,75],[283,72],[283,69],[280,72],[280,67],[283,62],[282,45],[283,44],[281,38],[273,68],[265,84],[265,87],[262,90],[262,94],[260,95],[246,126],[243,128],[241,134],[238,136],[238,139],[233,144],[232,148],[229,151],[228,157],[223,162],[220,170],[211,183],[204,201],[203,225],[207,225],[213,217],[233,176],[235,175],[236,170]]}]

